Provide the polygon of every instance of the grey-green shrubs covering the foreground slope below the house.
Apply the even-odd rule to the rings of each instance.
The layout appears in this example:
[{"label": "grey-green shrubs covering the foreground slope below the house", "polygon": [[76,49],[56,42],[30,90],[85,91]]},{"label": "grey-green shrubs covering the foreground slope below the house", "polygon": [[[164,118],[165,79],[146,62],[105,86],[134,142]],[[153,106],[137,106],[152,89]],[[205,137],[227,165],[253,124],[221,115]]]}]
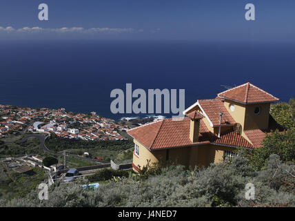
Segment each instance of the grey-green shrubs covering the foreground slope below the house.
[{"label": "grey-green shrubs covering the foreground slope below the house", "polygon": [[[96,190],[82,183],[52,186],[49,200],[38,191],[27,198],[0,200],[0,206],[295,206],[295,173],[271,155],[267,167],[255,171],[247,157],[187,171],[183,166],[112,180]],[[293,167],[294,170],[294,167]],[[245,199],[245,185],[255,186],[255,200]]]}]

